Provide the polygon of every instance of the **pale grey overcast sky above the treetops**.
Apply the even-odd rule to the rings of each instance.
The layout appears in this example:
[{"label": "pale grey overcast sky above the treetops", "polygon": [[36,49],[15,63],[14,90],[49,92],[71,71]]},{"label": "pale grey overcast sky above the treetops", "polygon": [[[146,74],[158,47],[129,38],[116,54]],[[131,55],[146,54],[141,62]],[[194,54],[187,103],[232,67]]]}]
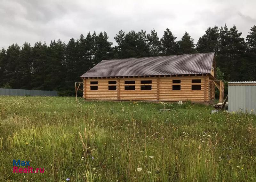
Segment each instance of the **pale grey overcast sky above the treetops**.
[{"label": "pale grey overcast sky above the treetops", "polygon": [[246,37],[256,24],[256,0],[0,0],[0,47],[61,39],[67,44],[87,32],[106,31],[116,44],[118,30],[155,28],[181,38],[185,30],[197,42],[211,26],[236,25]]}]

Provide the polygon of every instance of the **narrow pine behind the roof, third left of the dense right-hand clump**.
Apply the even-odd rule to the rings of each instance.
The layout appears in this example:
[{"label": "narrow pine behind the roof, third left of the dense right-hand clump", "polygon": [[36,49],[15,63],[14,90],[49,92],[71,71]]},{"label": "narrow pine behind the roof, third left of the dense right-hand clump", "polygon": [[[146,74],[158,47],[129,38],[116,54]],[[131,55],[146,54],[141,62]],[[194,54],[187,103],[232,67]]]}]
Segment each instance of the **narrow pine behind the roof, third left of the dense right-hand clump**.
[{"label": "narrow pine behind the roof, third left of the dense right-hand clump", "polygon": [[160,42],[156,30],[151,30],[150,34],[147,35],[147,38],[150,56],[158,56]]}]

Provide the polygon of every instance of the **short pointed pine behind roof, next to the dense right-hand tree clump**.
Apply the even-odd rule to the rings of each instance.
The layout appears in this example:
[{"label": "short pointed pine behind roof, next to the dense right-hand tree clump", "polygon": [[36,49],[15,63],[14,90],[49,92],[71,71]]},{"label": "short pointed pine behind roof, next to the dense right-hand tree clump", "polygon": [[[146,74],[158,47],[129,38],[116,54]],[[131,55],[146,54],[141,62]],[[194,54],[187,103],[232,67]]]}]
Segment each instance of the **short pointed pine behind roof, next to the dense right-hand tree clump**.
[{"label": "short pointed pine behind roof, next to the dense right-hand tree clump", "polygon": [[195,44],[194,39],[192,39],[188,32],[185,31],[184,35],[181,37],[179,41],[179,53],[181,54],[190,54],[195,52]]}]

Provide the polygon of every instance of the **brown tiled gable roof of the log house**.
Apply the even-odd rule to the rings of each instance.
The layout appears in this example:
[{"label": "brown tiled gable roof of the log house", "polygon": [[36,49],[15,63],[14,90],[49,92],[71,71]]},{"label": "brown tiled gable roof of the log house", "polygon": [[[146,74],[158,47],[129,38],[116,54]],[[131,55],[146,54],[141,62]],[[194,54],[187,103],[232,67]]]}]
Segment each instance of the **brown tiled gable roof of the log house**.
[{"label": "brown tiled gable roof of the log house", "polygon": [[214,52],[109,59],[102,60],[81,77],[210,74],[214,60]]}]

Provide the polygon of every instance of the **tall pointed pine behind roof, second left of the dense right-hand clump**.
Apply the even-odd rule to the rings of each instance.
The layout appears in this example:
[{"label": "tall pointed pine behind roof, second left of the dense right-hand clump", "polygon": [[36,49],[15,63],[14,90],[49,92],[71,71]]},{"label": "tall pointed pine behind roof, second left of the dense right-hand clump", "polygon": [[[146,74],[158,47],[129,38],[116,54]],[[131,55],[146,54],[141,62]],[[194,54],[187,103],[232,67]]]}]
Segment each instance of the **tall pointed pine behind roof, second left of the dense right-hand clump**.
[{"label": "tall pointed pine behind roof, second left of the dense right-hand clump", "polygon": [[160,40],[160,51],[162,55],[175,55],[178,51],[178,43],[176,37],[172,34],[169,28],[164,31],[164,35]]}]

